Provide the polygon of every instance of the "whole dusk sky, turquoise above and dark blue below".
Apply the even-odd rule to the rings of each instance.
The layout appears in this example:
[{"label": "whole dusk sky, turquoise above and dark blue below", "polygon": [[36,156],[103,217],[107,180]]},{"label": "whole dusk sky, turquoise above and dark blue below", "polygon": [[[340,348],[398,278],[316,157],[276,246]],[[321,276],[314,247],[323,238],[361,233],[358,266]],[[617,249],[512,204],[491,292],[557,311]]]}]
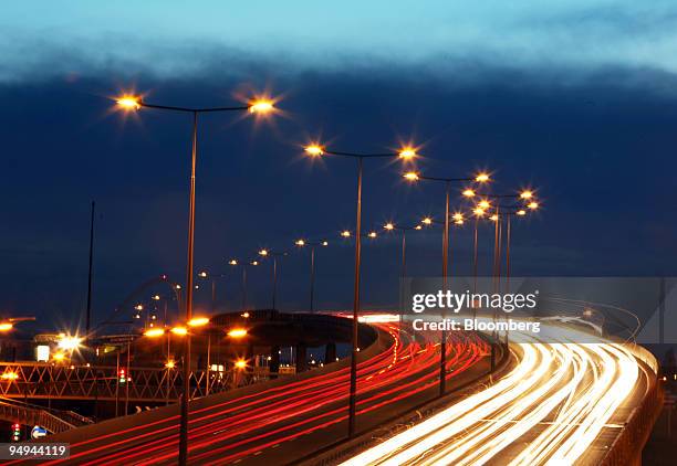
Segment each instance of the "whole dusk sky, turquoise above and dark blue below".
[{"label": "whole dusk sky, turquoise above and dark blue below", "polygon": [[[77,320],[92,200],[96,318],[152,276],[185,280],[190,119],[112,112],[132,89],[165,105],[279,97],[265,121],[201,121],[197,269],[327,239],[317,307],[351,305],[353,250],[338,232],[354,227],[355,166],[303,158],[321,138],[376,152],[412,140],[425,174],[488,169],[494,192],[537,189],[542,211],[514,227],[514,275],[674,275],[676,25],[665,0],[6,2],[0,314]],[[367,165],[367,226],[442,216],[441,187],[400,173]],[[491,235],[480,231],[483,273]],[[451,273],[470,274],[471,229],[452,242]],[[412,233],[408,272],[438,275],[439,250],[439,230]],[[365,307],[396,303],[398,239],[367,242],[363,265]],[[269,272],[250,277],[259,307]],[[219,282],[226,308],[239,286],[239,273]],[[279,300],[306,307],[305,252],[281,264]]]}]

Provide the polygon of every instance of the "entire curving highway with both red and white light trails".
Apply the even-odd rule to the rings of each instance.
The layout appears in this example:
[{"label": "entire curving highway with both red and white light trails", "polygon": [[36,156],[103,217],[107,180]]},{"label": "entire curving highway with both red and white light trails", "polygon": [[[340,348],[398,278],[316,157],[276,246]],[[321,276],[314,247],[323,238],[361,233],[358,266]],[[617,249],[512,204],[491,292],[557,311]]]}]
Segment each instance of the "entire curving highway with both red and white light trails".
[{"label": "entire curving highway with both red and white light trails", "polygon": [[[338,361],[194,400],[191,464],[637,464],[660,406],[657,363],[640,347],[513,335],[490,372],[486,341],[460,332],[447,358],[452,390],[438,399],[439,347],[406,324],[373,326],[360,353],[357,438],[345,438]],[[50,438],[72,445],[69,464],[91,465],[174,464],[177,439],[177,405]]]}]

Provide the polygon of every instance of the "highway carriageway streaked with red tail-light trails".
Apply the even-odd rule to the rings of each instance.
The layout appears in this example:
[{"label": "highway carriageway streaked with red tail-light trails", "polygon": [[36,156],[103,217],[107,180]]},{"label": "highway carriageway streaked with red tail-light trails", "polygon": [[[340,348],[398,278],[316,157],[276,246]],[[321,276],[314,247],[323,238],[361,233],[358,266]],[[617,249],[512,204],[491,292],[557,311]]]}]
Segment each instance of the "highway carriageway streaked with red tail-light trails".
[{"label": "highway carriageway streaked with red tail-light trails", "polygon": [[[394,322],[375,325],[387,333],[389,345],[358,366],[357,426],[363,430],[416,405],[438,384],[436,345],[417,342],[409,333],[398,331]],[[457,333],[449,345],[448,378],[472,368],[486,353],[482,340]],[[190,462],[258,463],[261,453],[277,451],[290,459],[289,452],[303,455],[323,443],[331,444],[346,432],[347,388],[348,369],[343,368],[218,403],[206,404],[204,399],[201,407],[196,403],[190,412]],[[50,439],[71,443],[70,465],[173,464],[177,457],[178,416],[176,411],[165,412],[152,422],[142,417],[140,424],[116,420]]]}]

